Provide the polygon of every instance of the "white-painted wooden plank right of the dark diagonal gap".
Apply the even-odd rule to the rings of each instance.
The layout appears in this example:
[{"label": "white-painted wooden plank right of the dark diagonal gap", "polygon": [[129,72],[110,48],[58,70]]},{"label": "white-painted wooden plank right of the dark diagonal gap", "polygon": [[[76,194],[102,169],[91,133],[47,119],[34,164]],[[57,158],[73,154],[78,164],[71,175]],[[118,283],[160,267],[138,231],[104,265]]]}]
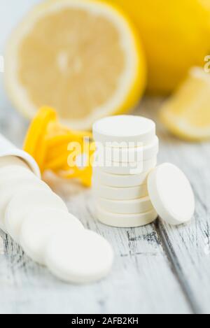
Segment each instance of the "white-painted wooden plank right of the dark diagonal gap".
[{"label": "white-painted wooden plank right of the dark diagonal gap", "polygon": [[[160,101],[148,99],[144,113],[155,118]],[[152,109],[151,109],[152,108]],[[157,228],[170,261],[195,313],[210,313],[210,147],[209,143],[186,143],[158,125],[159,163],[178,165],[193,185],[196,212],[193,221],[179,227],[159,221]]]}]

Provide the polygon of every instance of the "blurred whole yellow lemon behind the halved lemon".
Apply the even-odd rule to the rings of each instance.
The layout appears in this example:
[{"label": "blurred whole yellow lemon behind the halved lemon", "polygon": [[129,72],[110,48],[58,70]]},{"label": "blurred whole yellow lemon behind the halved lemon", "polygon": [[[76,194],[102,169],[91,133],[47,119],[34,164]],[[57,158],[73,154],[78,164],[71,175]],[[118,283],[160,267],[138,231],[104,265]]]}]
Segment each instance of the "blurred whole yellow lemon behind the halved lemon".
[{"label": "blurred whole yellow lemon behind the halved lemon", "polygon": [[209,0],[103,0],[118,3],[139,30],[148,61],[148,90],[174,90],[210,55]]}]

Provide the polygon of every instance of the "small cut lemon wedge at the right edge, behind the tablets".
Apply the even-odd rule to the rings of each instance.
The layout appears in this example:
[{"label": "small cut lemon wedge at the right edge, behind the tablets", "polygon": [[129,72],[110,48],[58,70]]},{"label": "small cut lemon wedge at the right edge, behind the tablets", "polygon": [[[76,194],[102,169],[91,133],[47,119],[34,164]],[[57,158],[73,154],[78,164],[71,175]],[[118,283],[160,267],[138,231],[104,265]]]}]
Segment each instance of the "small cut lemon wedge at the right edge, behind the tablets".
[{"label": "small cut lemon wedge at the right edge, behind the tablets", "polygon": [[210,138],[210,75],[195,67],[179,90],[162,106],[160,117],[167,129],[180,138]]}]

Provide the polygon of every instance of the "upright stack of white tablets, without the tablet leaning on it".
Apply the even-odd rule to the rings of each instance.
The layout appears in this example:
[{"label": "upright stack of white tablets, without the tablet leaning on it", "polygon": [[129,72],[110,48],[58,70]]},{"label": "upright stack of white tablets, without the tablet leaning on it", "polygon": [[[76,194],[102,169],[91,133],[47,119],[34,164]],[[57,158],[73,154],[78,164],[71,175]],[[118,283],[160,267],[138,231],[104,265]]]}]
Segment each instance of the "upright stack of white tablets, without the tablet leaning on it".
[{"label": "upright stack of white tablets, without the tablet leaning on it", "polygon": [[157,164],[155,123],[132,115],[106,117],[93,125],[93,136],[98,219],[114,227],[153,222],[158,215],[148,196],[147,177]]}]

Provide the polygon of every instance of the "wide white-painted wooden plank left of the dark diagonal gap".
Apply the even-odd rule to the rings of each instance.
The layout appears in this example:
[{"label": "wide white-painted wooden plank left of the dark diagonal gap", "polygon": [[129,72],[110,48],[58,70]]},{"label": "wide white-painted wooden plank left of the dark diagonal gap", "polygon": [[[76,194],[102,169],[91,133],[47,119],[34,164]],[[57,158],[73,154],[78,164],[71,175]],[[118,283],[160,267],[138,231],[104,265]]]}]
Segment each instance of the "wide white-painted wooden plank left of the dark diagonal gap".
[{"label": "wide white-painted wooden plank left of the dark diagonal gap", "polygon": [[[1,112],[0,129],[21,143],[25,122]],[[15,118],[14,118],[15,117]],[[92,194],[50,178],[71,213],[105,236],[116,259],[110,276],[93,285],[66,285],[31,262],[1,233],[0,313],[190,313],[192,308],[167,258],[155,224],[137,229],[106,227],[94,218]],[[2,241],[1,241],[2,253]]]}]

